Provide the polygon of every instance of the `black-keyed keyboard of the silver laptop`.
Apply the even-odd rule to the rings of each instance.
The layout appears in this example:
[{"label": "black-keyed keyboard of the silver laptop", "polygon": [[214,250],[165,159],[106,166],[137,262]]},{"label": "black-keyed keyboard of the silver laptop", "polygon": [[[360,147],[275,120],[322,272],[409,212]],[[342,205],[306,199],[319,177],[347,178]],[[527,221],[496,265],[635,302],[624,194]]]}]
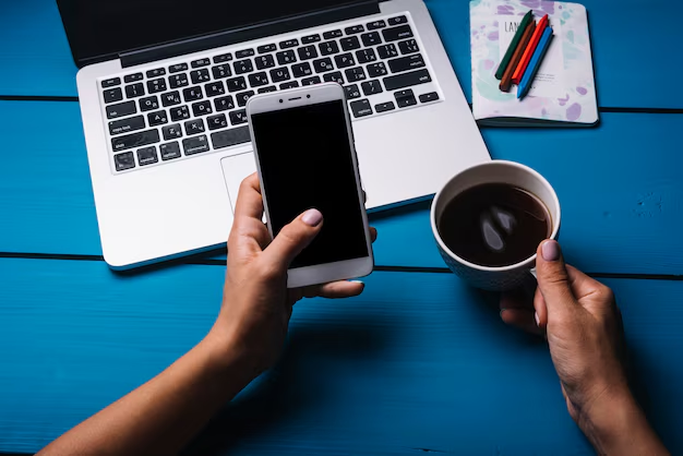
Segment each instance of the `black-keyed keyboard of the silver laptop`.
[{"label": "black-keyed keyboard of the silver laptop", "polygon": [[354,121],[440,100],[403,14],[100,80],[115,172],[251,141],[254,94],[336,82]]}]

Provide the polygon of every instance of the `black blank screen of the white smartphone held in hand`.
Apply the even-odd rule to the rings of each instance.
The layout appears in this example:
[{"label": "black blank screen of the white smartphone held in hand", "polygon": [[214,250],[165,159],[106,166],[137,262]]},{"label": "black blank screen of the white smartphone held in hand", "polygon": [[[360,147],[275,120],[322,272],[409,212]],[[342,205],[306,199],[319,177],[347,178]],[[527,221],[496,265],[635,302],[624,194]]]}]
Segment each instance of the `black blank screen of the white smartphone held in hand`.
[{"label": "black blank screen of the white smartphone held in hand", "polygon": [[273,235],[307,209],[324,217],[321,232],[292,268],[369,255],[343,103],[251,118]]}]

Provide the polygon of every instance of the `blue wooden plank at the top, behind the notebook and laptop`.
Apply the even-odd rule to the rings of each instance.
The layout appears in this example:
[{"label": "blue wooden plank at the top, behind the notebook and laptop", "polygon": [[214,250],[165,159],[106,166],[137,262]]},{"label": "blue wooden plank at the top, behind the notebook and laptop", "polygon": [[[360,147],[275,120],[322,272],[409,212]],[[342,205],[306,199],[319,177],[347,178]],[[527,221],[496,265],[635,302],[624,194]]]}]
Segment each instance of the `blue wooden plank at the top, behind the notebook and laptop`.
[{"label": "blue wooden plank at the top, behind the notebook and laptop", "polygon": [[[10,2],[4,2],[10,3]],[[529,3],[535,3],[529,2]],[[679,52],[676,14],[658,14],[652,31],[623,33],[646,12],[668,11],[664,0],[606,2],[585,0],[588,9],[600,106],[683,108],[675,77]],[[471,100],[469,2],[428,0],[467,98]],[[0,7],[0,95],[76,95],[75,67],[52,0],[26,0]],[[638,68],[631,62],[638,56]],[[666,62],[666,67],[664,65]],[[624,77],[628,74],[628,77]]]}]

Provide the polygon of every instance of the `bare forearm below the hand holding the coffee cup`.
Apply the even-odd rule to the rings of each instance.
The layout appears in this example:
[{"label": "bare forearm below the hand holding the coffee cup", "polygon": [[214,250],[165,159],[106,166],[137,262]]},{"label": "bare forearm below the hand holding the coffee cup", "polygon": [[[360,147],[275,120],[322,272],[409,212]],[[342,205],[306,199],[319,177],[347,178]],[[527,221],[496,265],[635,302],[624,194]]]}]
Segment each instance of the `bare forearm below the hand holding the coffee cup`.
[{"label": "bare forearm below the hand holding the coffee cup", "polygon": [[669,455],[630,393],[606,399],[578,424],[599,455]]}]

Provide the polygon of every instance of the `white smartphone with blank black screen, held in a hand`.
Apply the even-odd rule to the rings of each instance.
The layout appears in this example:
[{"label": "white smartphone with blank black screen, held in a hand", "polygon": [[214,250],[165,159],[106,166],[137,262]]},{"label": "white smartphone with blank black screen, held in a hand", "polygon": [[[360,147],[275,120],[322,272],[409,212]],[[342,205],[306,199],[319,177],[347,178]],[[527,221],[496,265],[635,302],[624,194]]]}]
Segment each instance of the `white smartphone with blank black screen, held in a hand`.
[{"label": "white smartphone with blank black screen, held in a hand", "polygon": [[304,211],[323,214],[320,233],[291,263],[287,286],[369,275],[372,242],[342,86],[256,95],[247,116],[271,236]]}]

